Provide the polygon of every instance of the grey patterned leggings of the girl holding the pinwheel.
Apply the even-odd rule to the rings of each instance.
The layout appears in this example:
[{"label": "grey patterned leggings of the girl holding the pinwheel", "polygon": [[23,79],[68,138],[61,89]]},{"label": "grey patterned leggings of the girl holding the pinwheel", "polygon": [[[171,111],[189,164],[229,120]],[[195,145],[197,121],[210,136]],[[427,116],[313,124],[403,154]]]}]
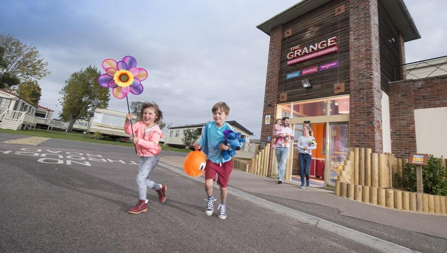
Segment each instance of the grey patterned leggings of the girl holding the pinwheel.
[{"label": "grey patterned leggings of the girl holding the pinwheel", "polygon": [[140,171],[137,175],[138,194],[140,196],[140,200],[146,200],[148,188],[155,191],[160,190],[159,184],[149,180],[149,173],[153,168],[155,168],[159,159],[160,157],[158,155],[140,157]]}]

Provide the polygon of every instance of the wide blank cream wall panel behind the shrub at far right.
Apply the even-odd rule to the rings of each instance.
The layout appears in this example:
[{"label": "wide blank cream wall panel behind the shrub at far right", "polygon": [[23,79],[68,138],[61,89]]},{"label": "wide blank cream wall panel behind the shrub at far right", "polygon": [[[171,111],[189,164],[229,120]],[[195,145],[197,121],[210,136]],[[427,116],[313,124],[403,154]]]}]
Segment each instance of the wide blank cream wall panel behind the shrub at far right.
[{"label": "wide blank cream wall panel behind the shrub at far right", "polygon": [[414,110],[418,153],[447,158],[447,107]]}]

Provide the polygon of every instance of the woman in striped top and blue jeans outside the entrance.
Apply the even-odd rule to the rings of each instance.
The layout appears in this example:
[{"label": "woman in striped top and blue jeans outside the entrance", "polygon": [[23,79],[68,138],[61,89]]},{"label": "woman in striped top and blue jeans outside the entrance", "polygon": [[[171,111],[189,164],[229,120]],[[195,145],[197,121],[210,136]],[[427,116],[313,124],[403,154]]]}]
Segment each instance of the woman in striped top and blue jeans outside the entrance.
[{"label": "woman in striped top and blue jeans outside the entrance", "polygon": [[[316,149],[315,138],[312,136],[312,129],[304,126],[302,136],[298,139],[298,162],[300,168],[301,186],[304,189],[309,186],[309,168],[312,160],[312,150]],[[304,174],[306,176],[306,184],[304,186]]]}]

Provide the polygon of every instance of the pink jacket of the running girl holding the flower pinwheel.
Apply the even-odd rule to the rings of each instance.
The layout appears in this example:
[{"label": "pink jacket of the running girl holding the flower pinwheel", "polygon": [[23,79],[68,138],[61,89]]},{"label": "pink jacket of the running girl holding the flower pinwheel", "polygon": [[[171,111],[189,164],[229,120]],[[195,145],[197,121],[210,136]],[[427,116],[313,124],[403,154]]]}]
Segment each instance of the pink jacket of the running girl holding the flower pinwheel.
[{"label": "pink jacket of the running girl holding the flower pinwheel", "polygon": [[[157,155],[161,151],[161,147],[158,144],[161,138],[163,138],[163,132],[155,125],[155,127],[150,130],[145,135],[146,124],[143,121],[136,122],[132,125],[135,136],[140,138],[135,146],[137,147],[137,154],[140,156],[153,156]],[[124,122],[124,131],[128,134],[132,134],[132,128],[130,123]]]}]

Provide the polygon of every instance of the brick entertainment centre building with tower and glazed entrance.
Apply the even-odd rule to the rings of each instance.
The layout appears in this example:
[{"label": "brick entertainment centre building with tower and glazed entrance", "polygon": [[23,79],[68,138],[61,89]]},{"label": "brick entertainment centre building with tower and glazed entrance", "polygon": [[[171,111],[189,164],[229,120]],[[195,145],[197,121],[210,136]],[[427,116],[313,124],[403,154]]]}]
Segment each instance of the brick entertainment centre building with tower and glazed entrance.
[{"label": "brick entertainment centre building with tower and glazed entrance", "polygon": [[[421,36],[402,0],[302,0],[257,28],[270,36],[261,140],[275,118],[288,116],[296,139],[310,125],[314,179],[333,187],[350,147],[428,152],[417,111],[447,115],[447,76],[404,80],[404,43]],[[273,152],[268,168],[274,177]],[[295,144],[286,179],[298,174]]]}]

